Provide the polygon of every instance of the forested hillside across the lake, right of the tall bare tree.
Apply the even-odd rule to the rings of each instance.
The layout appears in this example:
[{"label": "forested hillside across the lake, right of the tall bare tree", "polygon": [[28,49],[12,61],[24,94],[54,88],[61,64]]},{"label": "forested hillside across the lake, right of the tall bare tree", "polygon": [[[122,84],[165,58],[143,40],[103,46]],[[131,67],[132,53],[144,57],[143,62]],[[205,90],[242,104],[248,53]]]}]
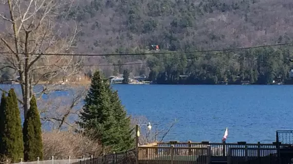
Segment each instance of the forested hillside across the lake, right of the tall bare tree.
[{"label": "forested hillside across the lake, right of the tall bare tree", "polygon": [[[293,2],[283,0],[86,0],[65,6],[68,22],[79,25],[76,53],[150,53],[251,47],[291,42]],[[237,76],[266,84],[287,77],[290,46],[227,52],[88,57],[84,65],[106,75],[130,69],[163,84],[214,84]],[[196,57],[198,56],[199,57]],[[84,67],[85,72],[93,67]],[[179,75],[189,76],[187,79]]]}]

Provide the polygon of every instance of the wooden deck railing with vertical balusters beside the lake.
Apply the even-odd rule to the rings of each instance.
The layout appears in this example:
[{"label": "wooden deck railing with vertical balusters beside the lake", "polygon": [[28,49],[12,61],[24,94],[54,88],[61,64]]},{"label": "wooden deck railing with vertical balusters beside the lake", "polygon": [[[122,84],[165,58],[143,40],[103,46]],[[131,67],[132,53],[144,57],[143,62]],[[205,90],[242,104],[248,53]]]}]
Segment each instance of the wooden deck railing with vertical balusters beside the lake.
[{"label": "wooden deck railing with vertical balusters beside the lake", "polygon": [[[155,142],[138,147],[139,163],[207,163],[211,158],[227,156],[231,163],[246,160],[272,161],[278,157],[280,142],[272,144],[210,143],[210,142]],[[159,161],[159,162],[158,162]],[[236,162],[236,163],[237,163]]]}]

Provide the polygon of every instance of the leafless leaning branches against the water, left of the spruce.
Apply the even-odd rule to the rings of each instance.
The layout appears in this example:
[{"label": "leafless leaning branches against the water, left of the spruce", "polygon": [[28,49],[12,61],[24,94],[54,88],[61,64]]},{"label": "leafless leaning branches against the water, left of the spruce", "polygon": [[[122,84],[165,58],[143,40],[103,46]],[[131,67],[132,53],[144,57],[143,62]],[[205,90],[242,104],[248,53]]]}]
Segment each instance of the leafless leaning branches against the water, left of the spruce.
[{"label": "leafless leaning branches against the water, left of the spruce", "polygon": [[46,128],[53,131],[76,130],[75,124],[82,109],[82,101],[86,95],[87,85],[73,86],[65,95],[48,95],[39,100],[41,120]]}]

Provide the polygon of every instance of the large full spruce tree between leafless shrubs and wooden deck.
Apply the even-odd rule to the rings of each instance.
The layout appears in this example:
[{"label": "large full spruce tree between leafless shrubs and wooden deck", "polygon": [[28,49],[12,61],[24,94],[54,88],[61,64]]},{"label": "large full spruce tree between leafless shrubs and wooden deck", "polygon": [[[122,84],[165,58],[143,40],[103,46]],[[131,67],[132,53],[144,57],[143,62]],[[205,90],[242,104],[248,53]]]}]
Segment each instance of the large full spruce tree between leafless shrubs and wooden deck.
[{"label": "large full spruce tree between leafless shrubs and wooden deck", "polygon": [[[91,85],[85,98],[83,112],[80,114],[79,125],[85,134],[100,140],[102,146],[112,148],[112,151],[122,151],[130,148],[130,144],[124,138],[131,136],[130,126],[122,128],[123,118],[117,119],[118,115],[124,116],[113,98],[112,88],[99,71],[91,78]],[[117,98],[119,99],[118,95]],[[117,109],[117,110],[116,110]],[[119,111],[119,113],[115,113]],[[122,114],[121,114],[122,113]],[[126,115],[125,115],[126,116]],[[125,119],[126,120],[126,119]],[[123,123],[122,125],[119,125]]]}]

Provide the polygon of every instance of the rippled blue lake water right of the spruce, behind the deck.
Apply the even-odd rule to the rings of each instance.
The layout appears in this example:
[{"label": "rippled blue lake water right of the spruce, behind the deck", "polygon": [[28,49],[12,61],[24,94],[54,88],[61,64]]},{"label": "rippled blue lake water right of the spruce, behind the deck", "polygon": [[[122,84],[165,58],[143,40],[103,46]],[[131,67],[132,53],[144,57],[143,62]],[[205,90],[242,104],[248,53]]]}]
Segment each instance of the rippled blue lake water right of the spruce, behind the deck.
[{"label": "rippled blue lake water right of the spruce, behind the deck", "polygon": [[293,129],[293,86],[114,85],[127,112],[157,125],[177,123],[165,140],[255,143]]}]

